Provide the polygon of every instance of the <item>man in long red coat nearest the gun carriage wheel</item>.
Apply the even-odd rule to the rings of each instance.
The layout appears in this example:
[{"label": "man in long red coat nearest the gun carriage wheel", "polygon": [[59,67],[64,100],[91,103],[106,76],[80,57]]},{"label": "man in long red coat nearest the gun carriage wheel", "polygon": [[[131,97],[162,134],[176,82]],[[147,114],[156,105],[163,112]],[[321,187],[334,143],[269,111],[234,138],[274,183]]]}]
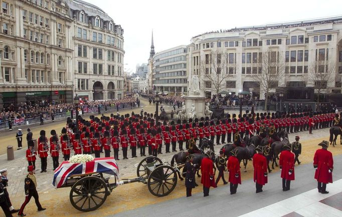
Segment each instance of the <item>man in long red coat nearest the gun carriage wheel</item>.
[{"label": "man in long red coat nearest the gun carriage wheel", "polygon": [[201,183],[203,184],[203,196],[209,196],[210,187],[216,187],[215,185],[215,177],[213,170],[213,160],[211,160],[208,154],[205,154],[205,157],[201,162]]}]

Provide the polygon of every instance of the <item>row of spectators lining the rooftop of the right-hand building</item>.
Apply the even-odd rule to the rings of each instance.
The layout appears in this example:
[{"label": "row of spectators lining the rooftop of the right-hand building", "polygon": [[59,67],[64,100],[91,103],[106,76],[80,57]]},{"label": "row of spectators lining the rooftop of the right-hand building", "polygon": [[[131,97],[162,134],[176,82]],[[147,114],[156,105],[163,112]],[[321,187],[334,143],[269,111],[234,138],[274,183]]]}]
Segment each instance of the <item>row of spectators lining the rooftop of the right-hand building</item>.
[{"label": "row of spectators lining the rooftop of the right-hand building", "polygon": [[269,24],[269,25],[264,25],[264,26],[251,26],[251,27],[242,27],[242,28],[231,28],[231,29],[220,29],[220,30],[214,30],[214,31],[207,31],[202,34],[198,34],[194,37],[198,37],[204,34],[210,34],[210,33],[219,33],[219,32],[230,32],[230,31],[250,31],[250,30],[267,30],[267,29],[276,29],[276,28],[290,28],[290,27],[299,27],[299,26],[310,26],[310,25],[316,25],[316,24],[324,24],[324,23],[340,23],[342,22],[341,19],[337,20],[321,20],[321,21],[310,21],[310,22],[305,22],[301,21],[299,23],[291,23],[291,24]]}]

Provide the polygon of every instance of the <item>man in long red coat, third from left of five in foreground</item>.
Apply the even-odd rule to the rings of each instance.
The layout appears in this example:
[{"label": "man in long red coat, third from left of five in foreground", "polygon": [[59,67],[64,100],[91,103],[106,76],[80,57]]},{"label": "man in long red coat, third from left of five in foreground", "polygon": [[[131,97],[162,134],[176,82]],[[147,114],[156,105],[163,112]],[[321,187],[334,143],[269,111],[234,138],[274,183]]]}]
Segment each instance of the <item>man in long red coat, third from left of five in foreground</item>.
[{"label": "man in long red coat, third from left of five in foreground", "polygon": [[263,155],[263,146],[257,146],[253,156],[254,182],[256,193],[262,192],[262,186],[267,183],[267,160]]}]

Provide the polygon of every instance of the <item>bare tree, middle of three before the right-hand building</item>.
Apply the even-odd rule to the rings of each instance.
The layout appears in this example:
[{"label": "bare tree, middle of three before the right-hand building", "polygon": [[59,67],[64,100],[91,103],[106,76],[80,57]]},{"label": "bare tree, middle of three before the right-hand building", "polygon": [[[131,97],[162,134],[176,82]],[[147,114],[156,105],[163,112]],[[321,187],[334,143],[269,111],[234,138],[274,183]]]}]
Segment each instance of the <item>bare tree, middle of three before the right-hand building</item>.
[{"label": "bare tree, middle of three before the right-hand building", "polygon": [[285,75],[284,59],[278,50],[267,49],[259,54],[258,63],[255,65],[258,66],[258,73],[252,77],[265,92],[266,110],[270,90],[278,87],[278,81]]}]

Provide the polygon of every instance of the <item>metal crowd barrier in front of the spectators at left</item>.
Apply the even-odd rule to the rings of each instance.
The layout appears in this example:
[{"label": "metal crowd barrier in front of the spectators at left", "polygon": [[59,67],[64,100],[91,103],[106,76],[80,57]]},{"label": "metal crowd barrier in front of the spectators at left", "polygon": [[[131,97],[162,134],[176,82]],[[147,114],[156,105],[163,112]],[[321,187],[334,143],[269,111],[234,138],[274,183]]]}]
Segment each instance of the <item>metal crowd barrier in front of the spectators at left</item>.
[{"label": "metal crowd barrier in front of the spectators at left", "polygon": [[[134,107],[134,105],[133,105]],[[130,108],[130,103],[128,104],[120,104],[118,107],[118,111],[123,110],[124,108]],[[84,115],[86,113],[88,114],[93,114],[93,113],[103,113],[103,112],[114,112],[116,111],[116,105],[114,104],[113,106],[107,106],[107,108],[105,108],[104,106],[102,106],[100,108],[100,112],[98,111],[97,107],[90,107],[90,108],[85,108],[83,109],[83,111],[79,112],[81,115]],[[54,113],[54,120],[61,120],[61,119],[66,119],[67,117],[72,117],[72,118],[76,118],[76,110],[73,110],[73,115],[71,115],[71,111],[60,111],[60,112],[55,112]],[[45,113],[43,114],[44,116],[44,123],[45,122],[51,122],[52,121],[52,116],[51,113]],[[86,117],[88,118],[88,117]],[[34,125],[34,124],[38,124],[40,123],[40,116],[39,115],[35,115],[32,117],[25,117],[25,118],[11,118],[12,120],[12,128],[20,128],[21,126],[25,126],[25,125]],[[0,131],[1,130],[5,130],[5,129],[9,129],[9,123],[8,123],[8,118],[0,118]]]}]

